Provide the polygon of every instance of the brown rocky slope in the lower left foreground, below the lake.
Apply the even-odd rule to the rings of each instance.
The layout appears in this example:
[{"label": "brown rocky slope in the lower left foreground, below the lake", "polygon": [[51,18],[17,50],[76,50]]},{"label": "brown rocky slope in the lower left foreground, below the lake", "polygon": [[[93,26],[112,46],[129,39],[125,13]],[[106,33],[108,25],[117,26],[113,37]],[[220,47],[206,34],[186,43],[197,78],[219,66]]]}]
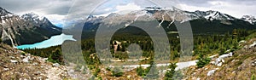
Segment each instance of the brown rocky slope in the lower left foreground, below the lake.
[{"label": "brown rocky slope in the lower left foreground, below the lake", "polygon": [[0,43],[0,80],[61,80],[69,78],[67,66]]}]

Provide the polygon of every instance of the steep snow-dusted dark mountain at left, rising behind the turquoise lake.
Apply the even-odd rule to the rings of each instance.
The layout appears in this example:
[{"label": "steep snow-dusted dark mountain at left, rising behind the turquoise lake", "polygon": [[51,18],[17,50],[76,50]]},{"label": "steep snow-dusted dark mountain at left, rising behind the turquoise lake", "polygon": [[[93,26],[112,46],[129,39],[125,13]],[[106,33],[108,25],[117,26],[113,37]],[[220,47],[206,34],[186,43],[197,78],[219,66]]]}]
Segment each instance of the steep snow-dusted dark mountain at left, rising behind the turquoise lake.
[{"label": "steep snow-dusted dark mountain at left, rising behind the turquoise lake", "polygon": [[0,8],[0,37],[3,43],[12,46],[37,43],[57,34],[61,34],[61,28],[45,17],[33,13],[19,16]]}]

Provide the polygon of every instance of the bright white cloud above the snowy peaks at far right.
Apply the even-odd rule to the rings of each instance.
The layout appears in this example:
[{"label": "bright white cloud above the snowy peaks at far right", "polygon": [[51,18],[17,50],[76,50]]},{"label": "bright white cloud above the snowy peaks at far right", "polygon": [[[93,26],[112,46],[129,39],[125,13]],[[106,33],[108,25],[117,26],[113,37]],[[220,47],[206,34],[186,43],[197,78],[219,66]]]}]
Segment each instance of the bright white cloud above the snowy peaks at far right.
[{"label": "bright white cloud above the snowy peaks at far right", "polygon": [[246,3],[231,3],[227,1],[208,1],[206,2],[208,5],[198,6],[196,4],[189,5],[189,3],[180,3],[179,6],[183,10],[187,11],[207,11],[207,10],[215,10],[224,14],[230,14],[236,18],[241,18],[242,15],[256,15],[254,12],[256,9],[256,5],[248,5]]}]

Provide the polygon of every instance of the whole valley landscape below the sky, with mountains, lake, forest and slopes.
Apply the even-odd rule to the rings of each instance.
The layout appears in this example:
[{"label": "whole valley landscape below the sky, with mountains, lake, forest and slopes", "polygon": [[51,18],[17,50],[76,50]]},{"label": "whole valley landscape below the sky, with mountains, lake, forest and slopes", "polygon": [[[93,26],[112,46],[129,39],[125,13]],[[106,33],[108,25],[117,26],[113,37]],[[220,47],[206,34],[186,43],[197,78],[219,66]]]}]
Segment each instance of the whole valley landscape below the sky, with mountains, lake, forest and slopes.
[{"label": "whole valley landscape below the sky, with mountains, lake, forest and slopes", "polygon": [[256,19],[251,15],[147,7],[125,14],[90,14],[57,27],[34,13],[17,15],[3,8],[0,13],[3,80],[256,76]]}]

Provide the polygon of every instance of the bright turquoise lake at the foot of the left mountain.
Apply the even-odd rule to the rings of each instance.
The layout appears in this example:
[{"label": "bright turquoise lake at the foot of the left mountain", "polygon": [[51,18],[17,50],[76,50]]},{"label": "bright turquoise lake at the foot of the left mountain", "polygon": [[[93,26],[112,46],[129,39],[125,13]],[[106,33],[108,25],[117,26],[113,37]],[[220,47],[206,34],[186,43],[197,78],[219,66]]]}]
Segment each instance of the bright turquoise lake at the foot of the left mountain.
[{"label": "bright turquoise lake at the foot of the left mountain", "polygon": [[33,43],[33,44],[24,44],[17,46],[17,49],[44,49],[44,48],[49,48],[51,46],[56,46],[56,45],[61,45],[64,41],[66,40],[71,40],[71,41],[76,41],[73,38],[73,35],[66,35],[66,34],[61,34],[61,35],[56,35],[53,37],[50,37],[47,40],[44,40],[43,42],[40,43]]}]

